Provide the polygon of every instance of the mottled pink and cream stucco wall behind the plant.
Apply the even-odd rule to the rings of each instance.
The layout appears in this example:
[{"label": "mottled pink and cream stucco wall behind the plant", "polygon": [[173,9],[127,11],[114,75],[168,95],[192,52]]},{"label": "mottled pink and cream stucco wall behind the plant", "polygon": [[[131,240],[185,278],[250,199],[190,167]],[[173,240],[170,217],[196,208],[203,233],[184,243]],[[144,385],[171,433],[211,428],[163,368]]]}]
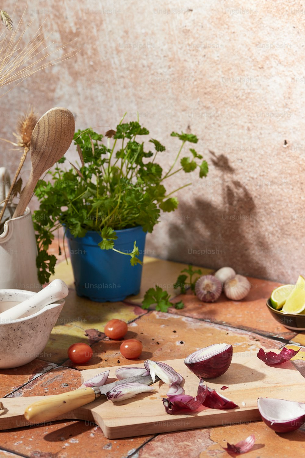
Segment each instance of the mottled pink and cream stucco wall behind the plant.
[{"label": "mottled pink and cream stucco wall behind the plant", "polygon": [[[80,53],[1,99],[1,136],[30,103],[40,114],[65,106],[77,128],[101,132],[138,110],[169,149],[166,168],[178,144],[170,132],[189,129],[209,176],[191,174],[177,212],[148,236],[149,254],[284,282],[305,274],[302,2],[32,0],[26,17],[31,30],[46,20],[54,47],[77,38]],[[11,173],[18,158],[1,144]],[[176,176],[171,190],[190,177]]]}]

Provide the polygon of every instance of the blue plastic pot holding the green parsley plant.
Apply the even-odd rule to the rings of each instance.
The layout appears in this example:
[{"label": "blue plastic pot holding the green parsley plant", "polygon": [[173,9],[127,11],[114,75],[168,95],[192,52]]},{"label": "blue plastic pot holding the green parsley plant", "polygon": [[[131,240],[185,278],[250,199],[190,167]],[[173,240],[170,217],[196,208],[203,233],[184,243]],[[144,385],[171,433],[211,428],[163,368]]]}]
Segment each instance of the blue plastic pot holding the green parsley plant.
[{"label": "blue plastic pot holding the green parsley plant", "polygon": [[[138,257],[143,261],[146,232],[142,227],[117,230],[116,234],[118,239],[114,241],[114,248],[131,253],[136,240]],[[78,296],[96,302],[115,302],[139,293],[141,264],[132,266],[130,256],[113,250],[102,250],[98,246],[102,237],[96,231],[88,231],[85,237],[74,237],[66,229],[66,237]]]}]

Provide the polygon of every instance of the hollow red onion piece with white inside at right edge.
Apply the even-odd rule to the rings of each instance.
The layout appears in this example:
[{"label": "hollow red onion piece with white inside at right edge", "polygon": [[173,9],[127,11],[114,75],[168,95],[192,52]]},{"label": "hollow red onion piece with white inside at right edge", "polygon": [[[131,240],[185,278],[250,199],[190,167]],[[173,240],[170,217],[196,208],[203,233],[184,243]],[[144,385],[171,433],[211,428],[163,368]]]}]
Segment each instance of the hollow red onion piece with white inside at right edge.
[{"label": "hollow red onion piece with white inside at right edge", "polygon": [[257,406],[262,420],[273,431],[295,431],[305,423],[305,403],[258,398]]}]

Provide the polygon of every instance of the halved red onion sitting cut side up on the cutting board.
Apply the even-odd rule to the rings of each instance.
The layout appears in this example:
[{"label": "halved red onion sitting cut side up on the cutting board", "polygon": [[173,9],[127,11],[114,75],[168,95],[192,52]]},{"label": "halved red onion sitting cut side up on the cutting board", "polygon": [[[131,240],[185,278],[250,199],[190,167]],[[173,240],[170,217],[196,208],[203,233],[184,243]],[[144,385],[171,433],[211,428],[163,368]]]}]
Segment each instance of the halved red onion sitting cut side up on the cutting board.
[{"label": "halved red onion sitting cut side up on the cutting board", "polygon": [[232,345],[213,344],[189,354],[184,364],[199,378],[214,378],[229,369],[232,356]]}]

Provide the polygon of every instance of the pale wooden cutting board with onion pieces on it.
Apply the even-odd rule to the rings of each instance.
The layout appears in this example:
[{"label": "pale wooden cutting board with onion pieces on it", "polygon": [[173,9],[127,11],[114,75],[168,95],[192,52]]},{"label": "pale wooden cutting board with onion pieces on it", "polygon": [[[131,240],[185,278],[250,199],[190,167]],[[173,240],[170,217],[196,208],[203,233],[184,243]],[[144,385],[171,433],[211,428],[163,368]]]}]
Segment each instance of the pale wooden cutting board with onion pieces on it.
[{"label": "pale wooden cutting board with onion pieces on it", "polygon": [[[268,350],[270,351],[270,350]],[[278,352],[278,350],[273,350]],[[186,394],[195,396],[198,377],[190,372],[184,360],[164,361],[185,378]],[[121,365],[123,366],[123,365]],[[143,364],[132,366],[143,367]],[[110,370],[108,382],[115,379],[116,367]],[[82,381],[86,381],[106,368],[81,371]],[[93,421],[99,425],[109,439],[142,436],[168,431],[180,431],[208,426],[243,423],[261,420],[257,409],[257,398],[279,398],[305,402],[305,380],[294,365],[288,361],[279,366],[267,366],[257,358],[257,351],[234,353],[228,371],[216,379],[207,380],[207,385],[234,401],[239,408],[232,410],[205,409],[191,415],[166,414],[162,398],[168,387],[163,382],[155,383],[155,393],[141,393],[134,398],[118,403],[107,401],[105,397],[58,417]],[[222,386],[228,389],[221,391]],[[44,396],[0,399],[4,410],[0,411],[0,430],[32,425],[24,418],[25,408]]]}]

